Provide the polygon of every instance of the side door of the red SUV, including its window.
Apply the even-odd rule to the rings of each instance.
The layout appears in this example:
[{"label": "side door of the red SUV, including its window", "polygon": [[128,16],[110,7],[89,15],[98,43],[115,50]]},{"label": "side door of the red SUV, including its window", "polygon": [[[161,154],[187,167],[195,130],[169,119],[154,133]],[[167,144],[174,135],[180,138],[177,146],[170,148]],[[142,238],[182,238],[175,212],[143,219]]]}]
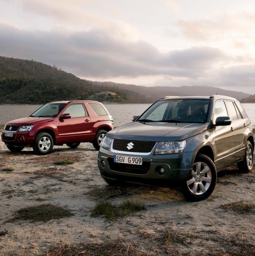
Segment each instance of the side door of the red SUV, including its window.
[{"label": "side door of the red SUV, including its window", "polygon": [[62,114],[71,118],[59,120],[59,143],[84,142],[91,138],[91,120],[83,104],[71,104]]}]

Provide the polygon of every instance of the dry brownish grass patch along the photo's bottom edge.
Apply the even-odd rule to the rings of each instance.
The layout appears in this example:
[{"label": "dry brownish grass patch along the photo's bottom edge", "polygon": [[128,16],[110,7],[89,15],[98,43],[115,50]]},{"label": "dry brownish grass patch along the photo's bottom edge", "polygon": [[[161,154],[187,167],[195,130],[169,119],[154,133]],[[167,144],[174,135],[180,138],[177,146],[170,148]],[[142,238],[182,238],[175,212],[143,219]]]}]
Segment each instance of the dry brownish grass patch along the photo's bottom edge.
[{"label": "dry brownish grass patch along the photo's bottom edge", "polygon": [[152,256],[154,253],[141,252],[137,245],[122,240],[107,241],[100,244],[62,244],[51,248],[44,256]]}]

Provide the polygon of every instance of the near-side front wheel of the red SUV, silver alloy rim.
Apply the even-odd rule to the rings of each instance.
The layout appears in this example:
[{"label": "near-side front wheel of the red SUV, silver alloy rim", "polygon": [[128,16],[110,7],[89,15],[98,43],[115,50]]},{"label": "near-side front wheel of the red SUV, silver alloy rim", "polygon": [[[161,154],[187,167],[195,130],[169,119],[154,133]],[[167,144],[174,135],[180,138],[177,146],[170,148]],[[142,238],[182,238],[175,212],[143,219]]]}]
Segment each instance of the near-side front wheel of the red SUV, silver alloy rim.
[{"label": "near-side front wheel of the red SUV, silver alloy rim", "polygon": [[37,155],[47,155],[53,149],[53,139],[48,132],[40,132],[34,140],[33,150]]}]

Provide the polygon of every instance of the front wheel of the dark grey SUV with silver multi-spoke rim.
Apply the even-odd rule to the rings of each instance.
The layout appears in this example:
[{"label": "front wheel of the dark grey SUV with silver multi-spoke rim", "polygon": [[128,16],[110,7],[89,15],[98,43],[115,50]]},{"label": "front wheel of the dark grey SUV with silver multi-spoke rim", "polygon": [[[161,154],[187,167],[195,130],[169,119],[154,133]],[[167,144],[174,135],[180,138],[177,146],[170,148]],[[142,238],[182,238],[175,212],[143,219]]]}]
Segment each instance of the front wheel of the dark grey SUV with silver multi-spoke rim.
[{"label": "front wheel of the dark grey SUV with silver multi-spoke rim", "polygon": [[187,201],[201,201],[214,190],[217,172],[211,158],[198,154],[193,164],[191,177],[184,182],[183,194]]}]

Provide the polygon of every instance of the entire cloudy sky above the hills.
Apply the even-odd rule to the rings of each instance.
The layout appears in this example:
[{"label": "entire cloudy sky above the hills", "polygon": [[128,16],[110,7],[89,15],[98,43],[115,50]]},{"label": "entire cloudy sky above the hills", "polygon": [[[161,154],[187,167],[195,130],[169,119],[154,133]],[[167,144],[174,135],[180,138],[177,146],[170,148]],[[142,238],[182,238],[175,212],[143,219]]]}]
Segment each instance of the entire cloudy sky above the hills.
[{"label": "entire cloudy sky above the hills", "polygon": [[0,55],[92,81],[255,94],[255,1],[0,0]]}]

